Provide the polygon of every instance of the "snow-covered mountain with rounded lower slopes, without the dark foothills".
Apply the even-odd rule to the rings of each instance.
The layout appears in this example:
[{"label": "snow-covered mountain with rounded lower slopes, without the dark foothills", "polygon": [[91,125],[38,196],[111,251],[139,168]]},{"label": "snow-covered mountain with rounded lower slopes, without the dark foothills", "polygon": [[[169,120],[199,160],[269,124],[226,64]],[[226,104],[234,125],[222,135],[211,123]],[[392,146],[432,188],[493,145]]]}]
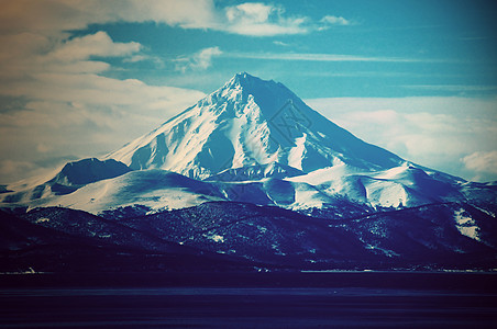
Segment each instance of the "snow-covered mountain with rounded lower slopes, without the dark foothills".
[{"label": "snow-covered mountain with rounded lower slopes, without the dark foothills", "polygon": [[4,204],[91,213],[222,200],[289,209],[344,200],[367,207],[497,203],[494,185],[408,162],[333,124],[281,83],[245,72],[103,161],[69,162],[8,189],[14,192],[2,193]]}]

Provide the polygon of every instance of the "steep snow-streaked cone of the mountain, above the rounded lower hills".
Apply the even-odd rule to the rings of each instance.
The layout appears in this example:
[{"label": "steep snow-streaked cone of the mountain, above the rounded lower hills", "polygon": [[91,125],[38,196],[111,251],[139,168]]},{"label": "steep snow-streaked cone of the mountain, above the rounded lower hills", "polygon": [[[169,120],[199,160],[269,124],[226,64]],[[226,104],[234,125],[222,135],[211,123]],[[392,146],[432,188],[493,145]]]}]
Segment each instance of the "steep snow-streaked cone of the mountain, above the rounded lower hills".
[{"label": "steep snow-streaked cone of the mountain, above the rounded lower hills", "polygon": [[194,179],[273,162],[306,173],[340,163],[386,170],[405,162],[330,122],[284,84],[246,72],[108,158]]}]

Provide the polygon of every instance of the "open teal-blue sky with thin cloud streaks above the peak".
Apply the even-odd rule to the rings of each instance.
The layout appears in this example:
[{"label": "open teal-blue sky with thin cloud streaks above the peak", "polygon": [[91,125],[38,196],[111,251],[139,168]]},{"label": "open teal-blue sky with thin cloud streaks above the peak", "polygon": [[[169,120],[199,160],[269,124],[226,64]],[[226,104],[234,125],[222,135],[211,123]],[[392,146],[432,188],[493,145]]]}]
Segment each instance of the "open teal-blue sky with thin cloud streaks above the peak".
[{"label": "open teal-blue sky with thin cloud streaks above the peak", "polygon": [[[218,11],[241,2],[221,3]],[[144,63],[123,66],[117,60],[115,68],[130,71],[114,72],[115,77],[154,84],[170,81],[206,92],[241,68],[285,81],[303,98],[484,95],[497,91],[497,24],[492,4],[285,1],[259,3],[253,10],[272,10],[268,22],[283,27],[253,24],[245,30],[232,27],[230,33],[150,23],[95,25],[89,31],[106,31],[118,42],[140,41],[144,53],[164,63],[157,69]],[[295,22],[299,20],[302,22]],[[191,60],[206,49],[211,49],[209,59],[206,57],[210,67],[202,70],[202,79],[196,79],[205,67],[196,67]],[[183,79],[177,81],[178,77]]]}]

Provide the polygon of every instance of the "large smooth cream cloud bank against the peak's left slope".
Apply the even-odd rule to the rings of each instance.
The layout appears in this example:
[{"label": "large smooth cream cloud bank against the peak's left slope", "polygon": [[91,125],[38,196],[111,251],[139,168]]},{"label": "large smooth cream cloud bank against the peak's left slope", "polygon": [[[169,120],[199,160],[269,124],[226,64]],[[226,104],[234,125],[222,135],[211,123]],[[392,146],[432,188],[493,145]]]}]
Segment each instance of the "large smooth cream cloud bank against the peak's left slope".
[{"label": "large smooth cream cloud bank against the peak's left slope", "polygon": [[[79,73],[43,77],[25,86],[22,94],[32,98],[23,110],[0,113],[0,154],[15,162],[106,154],[203,97],[194,90]],[[0,182],[37,173],[36,169],[0,169]]]}]

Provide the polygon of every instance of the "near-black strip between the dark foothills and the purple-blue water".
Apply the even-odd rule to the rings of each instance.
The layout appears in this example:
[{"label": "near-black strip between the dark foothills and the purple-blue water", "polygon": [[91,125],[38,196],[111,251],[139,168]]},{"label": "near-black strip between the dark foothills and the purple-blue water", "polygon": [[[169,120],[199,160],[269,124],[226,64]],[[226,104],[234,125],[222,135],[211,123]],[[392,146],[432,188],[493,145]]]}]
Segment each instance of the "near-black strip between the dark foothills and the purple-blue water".
[{"label": "near-black strip between the dark foothills and the purple-blue water", "polygon": [[497,293],[497,272],[29,273],[0,274],[0,287],[364,287]]}]

